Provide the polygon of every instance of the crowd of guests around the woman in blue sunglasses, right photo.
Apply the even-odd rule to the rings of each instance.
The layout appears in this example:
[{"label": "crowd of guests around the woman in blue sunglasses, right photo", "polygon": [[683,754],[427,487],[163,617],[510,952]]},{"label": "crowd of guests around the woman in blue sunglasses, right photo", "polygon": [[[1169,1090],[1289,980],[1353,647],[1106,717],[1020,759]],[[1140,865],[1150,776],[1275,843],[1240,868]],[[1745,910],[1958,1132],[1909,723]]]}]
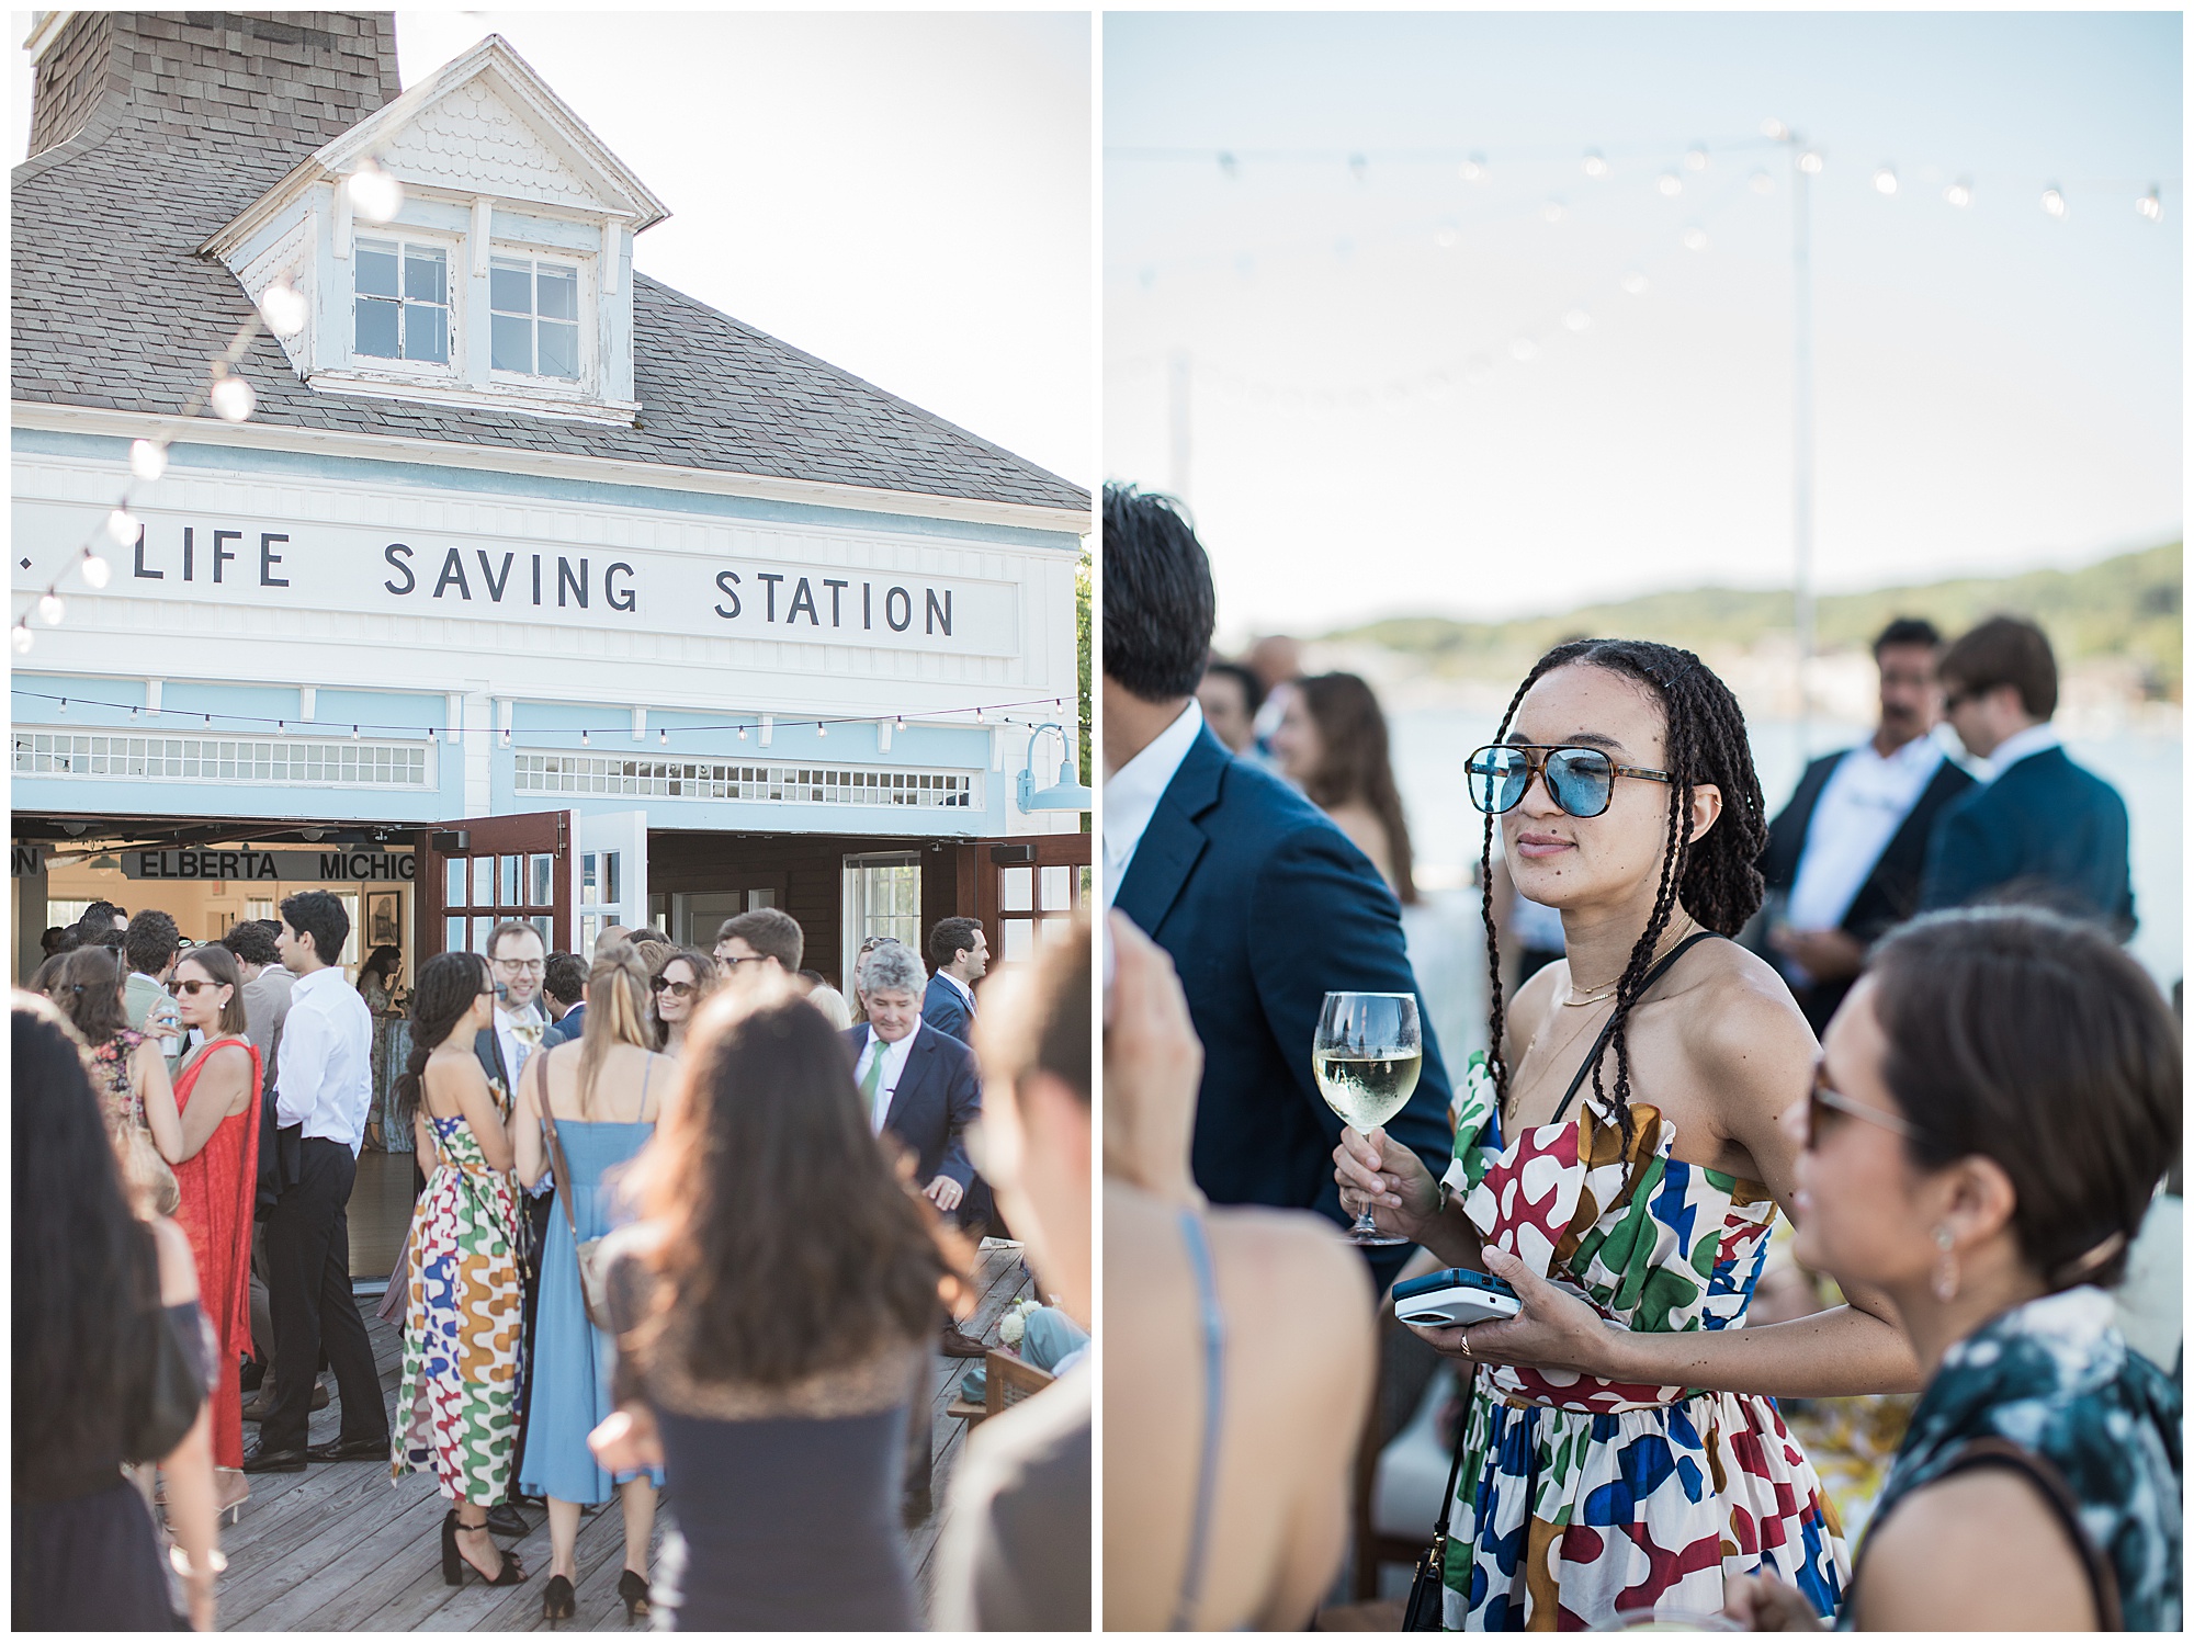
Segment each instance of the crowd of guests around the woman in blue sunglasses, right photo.
[{"label": "crowd of guests around the woman in blue sunglasses, right photo", "polygon": [[[1310,682],[1266,744],[1301,790],[1220,744],[1259,704],[1211,706],[1242,682],[1205,676],[1187,520],[1112,487],[1104,553],[1106,1272],[1134,1318],[1108,1619],[1312,1619],[1371,1296],[1415,1246],[1520,1312],[1417,1332],[1463,1406],[1411,1625],[2176,1630],[2181,1397],[2108,1290],[2179,1158],[2179,1024],[2119,945],[2124,805],[2049,730],[2040,632],[1889,630],[1885,733],[1808,772],[1812,825],[1773,842],[1700,658],[1549,651],[1455,757],[1481,884],[1499,834],[1560,948],[1514,985],[1488,917],[1488,1051],[1450,1079],[1428,1031],[1409,1106],[1358,1134],[1308,1051],[1325,992],[1415,992],[1391,840],[1380,864],[1323,785],[1347,761]],[[1937,711],[1975,779],[1898,757]],[[1762,864],[1790,875],[1766,919]],[[1738,941],[1755,921],[1784,970]],[[1825,983],[1819,1035],[1795,987]],[[1358,1211],[1400,1242],[1349,1255]],[[1777,1217],[1839,1305],[1749,1318]],[[1782,1404],[1882,1393],[1918,1400],[1854,1551]]]}]

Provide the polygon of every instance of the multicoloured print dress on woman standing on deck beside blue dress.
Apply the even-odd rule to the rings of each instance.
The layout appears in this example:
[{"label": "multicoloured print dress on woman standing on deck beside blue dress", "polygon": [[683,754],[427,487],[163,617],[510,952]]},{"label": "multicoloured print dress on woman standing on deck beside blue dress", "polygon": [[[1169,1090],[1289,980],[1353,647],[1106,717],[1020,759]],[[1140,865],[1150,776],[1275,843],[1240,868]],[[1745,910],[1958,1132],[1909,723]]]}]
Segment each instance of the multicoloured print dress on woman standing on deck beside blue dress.
[{"label": "multicoloured print dress on woman standing on deck beside blue dress", "polygon": [[494,1505],[518,1439],[518,1196],[463,1117],[428,1121],[441,1165],[412,1211],[388,1474],[434,1472],[445,1496]]}]

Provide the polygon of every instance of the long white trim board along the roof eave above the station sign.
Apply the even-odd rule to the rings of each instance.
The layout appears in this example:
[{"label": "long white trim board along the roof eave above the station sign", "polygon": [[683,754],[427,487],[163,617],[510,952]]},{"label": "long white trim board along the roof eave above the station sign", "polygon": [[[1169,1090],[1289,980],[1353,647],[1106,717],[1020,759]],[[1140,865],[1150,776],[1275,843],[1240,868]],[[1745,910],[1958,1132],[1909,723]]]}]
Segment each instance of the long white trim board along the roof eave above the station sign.
[{"label": "long white trim board along the roof eave above the station sign", "polygon": [[279,428],[272,423],[230,426],[213,421],[211,417],[143,417],[94,406],[55,406],[24,399],[13,401],[9,412],[15,428],[37,428],[61,434],[92,434],[105,439],[145,439],[162,434],[189,445],[283,450],[366,461],[380,458],[491,474],[538,474],[544,478],[570,478],[592,485],[634,485],[654,491],[739,496],[757,502],[801,502],[807,507],[840,507],[860,513],[906,513],[926,520],[1005,524],[1025,531],[1066,531],[1073,535],[1090,535],[1093,531],[1088,509],[926,496],[919,491],[878,491],[862,485],[832,485],[823,480],[772,478],[761,474],[726,474],[713,467],[671,467],[663,463],[627,463],[603,456],[529,452],[509,445],[452,445],[439,439],[347,434],[320,428]]}]

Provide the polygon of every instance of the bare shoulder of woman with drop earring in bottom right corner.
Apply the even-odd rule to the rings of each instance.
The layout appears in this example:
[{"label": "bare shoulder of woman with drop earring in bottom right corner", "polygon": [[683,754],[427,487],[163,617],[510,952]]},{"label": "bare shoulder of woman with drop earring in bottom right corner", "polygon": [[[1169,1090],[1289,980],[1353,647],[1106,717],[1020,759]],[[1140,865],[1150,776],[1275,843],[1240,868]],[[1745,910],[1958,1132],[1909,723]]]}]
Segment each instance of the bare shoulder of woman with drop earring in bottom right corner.
[{"label": "bare shoulder of woman with drop earring in bottom right corner", "polygon": [[1896,1533],[1867,1536],[1858,1619],[1869,1632],[2095,1630],[2080,1553],[2025,1474],[1957,1472],[1913,1489],[1891,1520]]}]

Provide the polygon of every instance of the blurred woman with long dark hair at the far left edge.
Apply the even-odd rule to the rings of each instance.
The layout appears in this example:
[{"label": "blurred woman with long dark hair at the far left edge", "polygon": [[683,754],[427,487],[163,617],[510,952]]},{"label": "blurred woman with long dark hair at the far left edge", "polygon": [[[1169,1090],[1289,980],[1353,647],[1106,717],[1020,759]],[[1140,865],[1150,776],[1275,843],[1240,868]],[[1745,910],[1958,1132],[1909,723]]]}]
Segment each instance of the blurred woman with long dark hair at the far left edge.
[{"label": "blurred woman with long dark hair at the far left edge", "polygon": [[[176,1628],[165,1564],[182,1573],[193,1630],[215,1623],[224,1566],[204,1406],[211,1342],[200,1323],[191,1242],[129,1206],[83,1046],[44,1000],[15,994],[9,1031],[13,1143],[15,1630],[165,1632]],[[162,1342],[162,1334],[169,1336]],[[158,1360],[176,1347],[189,1384],[158,1410]],[[171,1362],[178,1362],[171,1358]],[[147,1452],[147,1448],[156,1452]],[[160,1555],[129,1461],[167,1472],[176,1536]]]}]

